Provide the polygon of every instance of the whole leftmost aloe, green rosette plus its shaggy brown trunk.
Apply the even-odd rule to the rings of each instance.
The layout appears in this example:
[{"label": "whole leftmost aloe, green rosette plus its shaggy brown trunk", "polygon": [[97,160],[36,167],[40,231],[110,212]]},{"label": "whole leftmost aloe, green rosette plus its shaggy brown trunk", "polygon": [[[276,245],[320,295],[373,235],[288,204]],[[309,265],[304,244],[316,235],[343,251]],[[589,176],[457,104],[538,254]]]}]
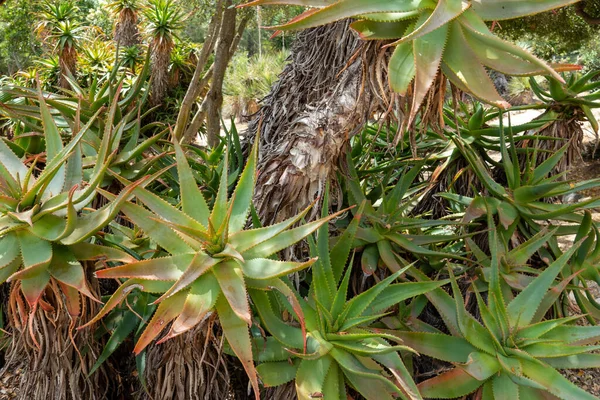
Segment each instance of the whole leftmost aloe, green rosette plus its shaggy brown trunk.
[{"label": "whole leftmost aloe, green rosette plus its shaggy brown trunk", "polygon": [[[12,331],[0,374],[23,371],[18,391],[27,398],[99,398],[91,387],[103,375],[87,376],[99,343],[74,329],[92,318],[100,302],[92,277],[95,261],[132,260],[91,237],[116,216],[135,185],[102,208],[88,208],[112,157],[112,124],[98,163],[84,178],[82,140],[97,116],[77,125],[63,144],[41,91],[39,103],[45,153],[22,160],[0,140],[0,284],[10,283],[6,304]],[[116,103],[109,114],[115,109]],[[40,386],[42,379],[49,383]]]}]

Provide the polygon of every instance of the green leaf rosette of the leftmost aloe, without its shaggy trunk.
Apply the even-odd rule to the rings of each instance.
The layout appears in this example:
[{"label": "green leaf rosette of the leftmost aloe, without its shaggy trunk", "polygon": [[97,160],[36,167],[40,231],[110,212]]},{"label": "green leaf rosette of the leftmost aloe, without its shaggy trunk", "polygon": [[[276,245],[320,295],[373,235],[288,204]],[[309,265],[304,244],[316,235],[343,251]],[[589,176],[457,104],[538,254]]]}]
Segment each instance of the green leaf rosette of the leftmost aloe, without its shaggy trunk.
[{"label": "green leaf rosette of the leftmost aloe, without its shaggy trunk", "polygon": [[[0,283],[14,283],[10,302],[17,328],[25,325],[27,311],[33,316],[38,305],[52,310],[53,306],[44,300],[48,287],[62,291],[72,316],[80,313],[80,294],[98,301],[90,291],[81,262],[132,259],[115,249],[86,241],[114,218],[133,187],[98,210],[84,209],[97,195],[111,159],[108,148],[112,126],[108,124],[100,146],[98,160],[103,161],[84,181],[81,140],[96,117],[63,145],[41,92],[39,102],[46,146],[43,168],[39,166],[41,157],[24,162],[0,140]],[[116,103],[111,115],[115,109]]]}]

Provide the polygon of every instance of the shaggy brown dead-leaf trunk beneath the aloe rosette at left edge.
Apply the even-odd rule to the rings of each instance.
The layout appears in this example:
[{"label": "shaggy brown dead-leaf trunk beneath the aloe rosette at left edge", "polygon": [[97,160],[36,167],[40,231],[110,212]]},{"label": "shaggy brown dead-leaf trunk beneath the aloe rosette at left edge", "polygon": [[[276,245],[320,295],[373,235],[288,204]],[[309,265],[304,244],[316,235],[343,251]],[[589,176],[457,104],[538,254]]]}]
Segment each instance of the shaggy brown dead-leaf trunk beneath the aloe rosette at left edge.
[{"label": "shaggy brown dead-leaf trunk beneath the aloe rosette at left edge", "polygon": [[[90,290],[97,293],[95,279]],[[94,329],[76,330],[99,310],[99,304],[80,296],[78,305],[68,305],[61,289],[51,283],[40,305],[27,309],[18,284],[11,287],[8,320],[14,325],[0,376],[13,389],[17,399],[80,400],[106,399],[109,382],[106,366],[88,376],[101,345]],[[79,308],[79,315],[76,309]]]}]

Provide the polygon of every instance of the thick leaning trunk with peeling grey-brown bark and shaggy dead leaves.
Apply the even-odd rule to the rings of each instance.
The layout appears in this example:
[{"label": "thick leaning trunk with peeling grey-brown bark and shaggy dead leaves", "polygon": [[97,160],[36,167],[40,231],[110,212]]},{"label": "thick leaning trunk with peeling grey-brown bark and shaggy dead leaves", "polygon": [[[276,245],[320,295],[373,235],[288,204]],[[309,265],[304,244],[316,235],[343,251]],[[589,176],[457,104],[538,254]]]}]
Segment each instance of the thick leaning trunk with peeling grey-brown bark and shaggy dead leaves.
[{"label": "thick leaning trunk with peeling grey-brown bark and shaggy dead leaves", "polygon": [[306,208],[322,197],[328,181],[341,195],[337,174],[345,170],[349,139],[375,112],[387,116],[399,105],[385,77],[388,57],[381,42],[361,41],[348,22],[298,35],[290,64],[245,138],[260,133],[255,204],[263,223]]}]

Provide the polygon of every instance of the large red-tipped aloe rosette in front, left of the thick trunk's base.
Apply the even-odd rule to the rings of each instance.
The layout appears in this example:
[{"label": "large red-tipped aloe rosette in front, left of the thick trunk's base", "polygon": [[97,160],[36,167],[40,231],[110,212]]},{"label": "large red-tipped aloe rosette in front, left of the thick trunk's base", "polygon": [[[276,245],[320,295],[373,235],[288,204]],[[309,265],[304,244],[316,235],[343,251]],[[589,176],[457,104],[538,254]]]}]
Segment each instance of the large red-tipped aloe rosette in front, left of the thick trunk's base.
[{"label": "large red-tipped aloe rosette in front, left of the thick trunk's base", "polygon": [[[307,268],[315,259],[281,262],[273,256],[336,215],[292,228],[306,215],[307,209],[276,225],[245,230],[256,182],[257,145],[230,199],[225,157],[212,210],[196,184],[183,149],[178,143],[174,146],[181,185],[181,210],[141,186],[133,193],[147,208],[133,203],[122,207],[122,212],[170,255],[98,271],[100,278],[127,280],[90,323],[110,312],[133,289],[158,294],[157,310],[134,349],[139,354],[169,322],[173,321],[159,343],[192,329],[207,315],[216,312],[223,333],[244,365],[258,399],[249,333],[253,322],[248,288],[287,291],[280,278]],[[301,313],[298,308],[296,310]]]}]

